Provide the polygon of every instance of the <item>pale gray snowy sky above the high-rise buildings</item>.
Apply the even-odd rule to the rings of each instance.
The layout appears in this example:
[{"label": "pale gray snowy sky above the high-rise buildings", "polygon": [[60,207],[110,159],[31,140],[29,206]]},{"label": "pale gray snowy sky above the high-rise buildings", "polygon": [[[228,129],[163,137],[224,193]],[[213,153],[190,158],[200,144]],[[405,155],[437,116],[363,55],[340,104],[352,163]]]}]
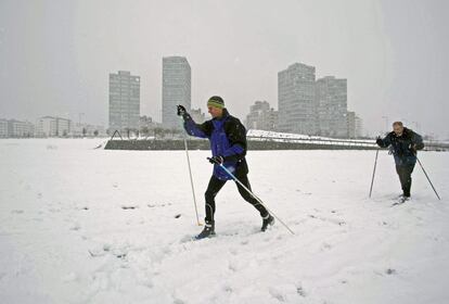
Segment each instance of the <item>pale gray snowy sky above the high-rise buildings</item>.
[{"label": "pale gray snowy sky above the high-rise buildings", "polygon": [[348,79],[348,109],[371,134],[385,119],[449,137],[449,1],[0,0],[0,117],[107,124],[108,73],[141,79],[141,113],[161,121],[162,58],[185,55],[192,105],[224,98],[242,119],[278,107],[294,62]]}]

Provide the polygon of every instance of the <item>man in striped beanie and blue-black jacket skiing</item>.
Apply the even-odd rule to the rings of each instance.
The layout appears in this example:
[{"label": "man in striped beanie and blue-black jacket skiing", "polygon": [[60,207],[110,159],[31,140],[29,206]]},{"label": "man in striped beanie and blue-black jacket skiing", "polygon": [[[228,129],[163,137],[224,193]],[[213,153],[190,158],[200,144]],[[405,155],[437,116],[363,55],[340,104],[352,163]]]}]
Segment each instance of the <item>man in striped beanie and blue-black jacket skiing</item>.
[{"label": "man in striped beanie and blue-black jacket skiing", "polygon": [[[232,177],[220,166],[221,164],[230,170],[246,188],[251,190],[247,177],[248,166],[246,164],[246,130],[242,123],[231,116],[224,107],[224,101],[217,96],[207,101],[207,109],[213,116],[204,124],[196,124],[187,113],[185,107],[178,105],[178,115],[184,119],[185,131],[194,137],[208,138],[213,157],[209,162],[214,164],[214,173],[205,193],[206,217],[203,231],[196,239],[204,239],[215,235],[215,197]],[[251,203],[262,217],[261,230],[265,231],[269,225],[274,224],[274,217],[242,186],[235,182],[242,198]]]}]

